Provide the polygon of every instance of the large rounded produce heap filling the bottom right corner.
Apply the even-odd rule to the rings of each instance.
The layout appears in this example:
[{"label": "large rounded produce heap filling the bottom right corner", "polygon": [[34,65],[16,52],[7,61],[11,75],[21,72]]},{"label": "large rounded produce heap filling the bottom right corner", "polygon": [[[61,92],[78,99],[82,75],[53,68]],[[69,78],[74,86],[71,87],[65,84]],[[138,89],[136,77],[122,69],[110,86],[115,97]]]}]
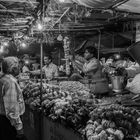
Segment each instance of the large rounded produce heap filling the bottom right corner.
[{"label": "large rounded produce heap filling the bottom right corner", "polygon": [[140,113],[119,105],[98,107],[90,113],[87,140],[123,140],[140,135]]}]

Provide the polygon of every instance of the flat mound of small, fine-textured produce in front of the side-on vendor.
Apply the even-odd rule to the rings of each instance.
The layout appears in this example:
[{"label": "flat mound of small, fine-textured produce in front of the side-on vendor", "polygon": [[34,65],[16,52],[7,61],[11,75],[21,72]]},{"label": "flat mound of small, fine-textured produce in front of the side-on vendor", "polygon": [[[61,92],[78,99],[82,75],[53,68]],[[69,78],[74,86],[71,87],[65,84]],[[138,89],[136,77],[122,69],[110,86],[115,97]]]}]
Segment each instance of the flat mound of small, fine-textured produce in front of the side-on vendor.
[{"label": "flat mound of small, fine-textured produce in front of the side-on vendor", "polygon": [[90,90],[82,83],[77,81],[63,81],[59,84],[61,91],[67,91],[72,94],[72,96],[89,96]]}]

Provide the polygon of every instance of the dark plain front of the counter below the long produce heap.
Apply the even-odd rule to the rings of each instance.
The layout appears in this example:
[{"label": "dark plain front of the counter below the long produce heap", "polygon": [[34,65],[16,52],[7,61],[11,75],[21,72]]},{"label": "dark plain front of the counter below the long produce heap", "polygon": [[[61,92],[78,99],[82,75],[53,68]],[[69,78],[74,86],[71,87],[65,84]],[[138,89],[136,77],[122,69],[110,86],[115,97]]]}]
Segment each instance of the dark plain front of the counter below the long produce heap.
[{"label": "dark plain front of the counter below the long produce heap", "polygon": [[[24,132],[29,140],[83,140],[82,135],[26,105]],[[42,124],[42,125],[41,125]]]}]

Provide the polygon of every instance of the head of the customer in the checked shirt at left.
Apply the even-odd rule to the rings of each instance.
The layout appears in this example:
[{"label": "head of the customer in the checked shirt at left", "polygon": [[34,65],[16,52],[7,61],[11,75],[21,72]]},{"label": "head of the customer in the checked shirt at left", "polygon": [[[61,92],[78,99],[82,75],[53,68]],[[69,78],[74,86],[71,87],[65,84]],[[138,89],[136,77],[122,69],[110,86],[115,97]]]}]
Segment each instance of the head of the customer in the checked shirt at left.
[{"label": "head of the customer in the checked shirt at left", "polygon": [[11,73],[13,68],[18,67],[18,58],[17,57],[5,57],[2,62],[3,71],[7,73]]}]

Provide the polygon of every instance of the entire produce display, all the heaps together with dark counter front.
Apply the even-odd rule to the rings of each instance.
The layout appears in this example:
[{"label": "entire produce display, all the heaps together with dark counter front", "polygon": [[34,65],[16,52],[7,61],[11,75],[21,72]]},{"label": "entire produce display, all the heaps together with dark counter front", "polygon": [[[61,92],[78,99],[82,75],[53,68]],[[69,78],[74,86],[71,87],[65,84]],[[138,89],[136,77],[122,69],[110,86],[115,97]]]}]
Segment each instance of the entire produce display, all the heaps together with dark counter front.
[{"label": "entire produce display, all the heaps together with dark counter front", "polygon": [[[31,131],[27,132],[30,139],[37,140],[40,135],[43,140],[127,140],[139,137],[140,112],[133,106],[134,95],[98,99],[77,81],[63,81],[59,85],[43,83],[42,102],[40,83],[30,81],[23,94],[27,105],[24,119],[28,120],[25,128],[28,126]],[[131,105],[126,102],[129,99]]]}]

